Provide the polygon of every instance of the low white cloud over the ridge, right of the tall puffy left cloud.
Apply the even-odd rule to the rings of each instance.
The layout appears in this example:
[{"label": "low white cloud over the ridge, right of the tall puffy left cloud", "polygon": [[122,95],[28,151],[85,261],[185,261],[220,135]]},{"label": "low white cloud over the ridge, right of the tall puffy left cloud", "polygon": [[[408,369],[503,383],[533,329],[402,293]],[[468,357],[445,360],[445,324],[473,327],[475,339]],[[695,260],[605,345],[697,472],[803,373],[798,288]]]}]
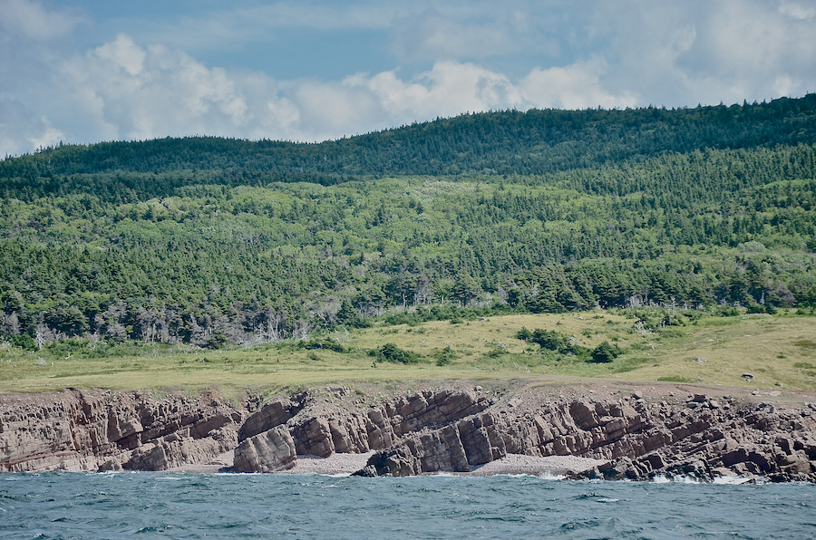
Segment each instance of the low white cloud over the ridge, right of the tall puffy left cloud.
[{"label": "low white cloud over the ridge, right of the tall puffy left cloud", "polygon": [[513,83],[502,73],[474,63],[439,62],[412,80],[403,80],[393,71],[373,76],[358,73],[340,85],[298,82],[292,92],[303,120],[298,126],[301,136],[311,140],[468,111],[636,104],[630,92],[605,90],[602,74],[602,63],[580,63],[535,69]]}]

